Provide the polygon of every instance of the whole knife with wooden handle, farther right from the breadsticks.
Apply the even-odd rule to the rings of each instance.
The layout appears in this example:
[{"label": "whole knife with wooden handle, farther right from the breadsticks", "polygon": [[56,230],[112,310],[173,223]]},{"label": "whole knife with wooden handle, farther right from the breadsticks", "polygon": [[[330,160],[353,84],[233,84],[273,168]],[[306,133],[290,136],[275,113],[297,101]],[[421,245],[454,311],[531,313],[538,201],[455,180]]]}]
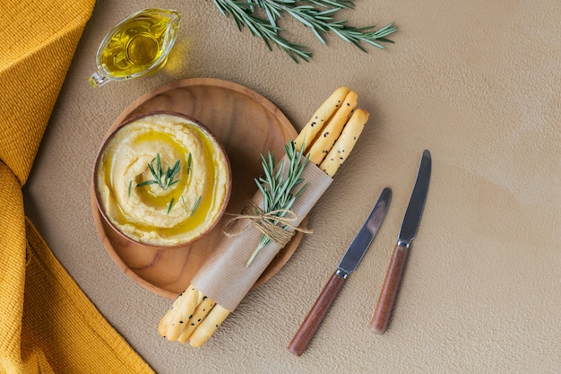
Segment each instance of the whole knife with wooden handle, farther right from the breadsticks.
[{"label": "whole knife with wooden handle, farther right from the breadsticks", "polygon": [[392,260],[385,274],[382,291],[376,303],[370,329],[377,334],[384,334],[390,321],[393,304],[401,282],[405,260],[409,253],[411,241],[415,238],[419,222],[427,201],[430,172],[432,169],[431,155],[428,150],[423,152],[417,172],[417,180],[411,193],[410,202],[403,216],[397,244],[393,248]]}]

